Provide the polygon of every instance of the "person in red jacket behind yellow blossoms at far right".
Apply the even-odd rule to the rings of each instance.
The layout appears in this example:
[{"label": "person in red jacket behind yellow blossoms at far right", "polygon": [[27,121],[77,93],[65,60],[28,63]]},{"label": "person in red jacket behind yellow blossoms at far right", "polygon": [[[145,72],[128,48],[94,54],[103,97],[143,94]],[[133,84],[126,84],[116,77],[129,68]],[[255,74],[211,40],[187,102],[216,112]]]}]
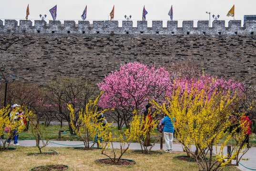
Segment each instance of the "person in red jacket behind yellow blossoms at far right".
[{"label": "person in red jacket behind yellow blossoms at far right", "polygon": [[251,134],[251,124],[252,121],[247,116],[241,117],[241,133],[246,134],[245,140],[242,142],[242,145],[244,143],[247,143],[247,148],[250,148],[249,146],[249,135]]}]

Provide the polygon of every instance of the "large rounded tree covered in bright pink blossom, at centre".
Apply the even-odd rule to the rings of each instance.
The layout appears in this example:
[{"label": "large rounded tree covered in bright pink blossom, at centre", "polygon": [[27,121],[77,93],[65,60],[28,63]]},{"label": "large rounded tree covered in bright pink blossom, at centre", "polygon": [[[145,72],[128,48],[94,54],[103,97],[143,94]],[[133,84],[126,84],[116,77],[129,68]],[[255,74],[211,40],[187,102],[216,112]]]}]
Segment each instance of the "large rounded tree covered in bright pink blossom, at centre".
[{"label": "large rounded tree covered in bright pink blossom, at centre", "polygon": [[123,124],[129,128],[133,111],[141,111],[152,99],[164,99],[165,91],[170,89],[171,79],[164,67],[147,66],[138,62],[121,66],[98,84],[103,92],[99,105],[115,108],[110,115],[121,129]]}]

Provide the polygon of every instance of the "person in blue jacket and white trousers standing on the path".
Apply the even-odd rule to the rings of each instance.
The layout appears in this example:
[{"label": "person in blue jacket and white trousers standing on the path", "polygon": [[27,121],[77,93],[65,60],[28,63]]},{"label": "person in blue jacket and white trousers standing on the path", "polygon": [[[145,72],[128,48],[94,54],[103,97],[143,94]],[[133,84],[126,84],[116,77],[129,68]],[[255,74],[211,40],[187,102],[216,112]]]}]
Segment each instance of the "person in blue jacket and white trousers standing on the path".
[{"label": "person in blue jacket and white trousers standing on the path", "polygon": [[[175,118],[173,118],[175,122]],[[162,124],[164,124],[164,140],[167,150],[165,152],[173,152],[173,140],[174,140],[174,125],[173,121],[169,118],[169,116],[165,116]]]}]

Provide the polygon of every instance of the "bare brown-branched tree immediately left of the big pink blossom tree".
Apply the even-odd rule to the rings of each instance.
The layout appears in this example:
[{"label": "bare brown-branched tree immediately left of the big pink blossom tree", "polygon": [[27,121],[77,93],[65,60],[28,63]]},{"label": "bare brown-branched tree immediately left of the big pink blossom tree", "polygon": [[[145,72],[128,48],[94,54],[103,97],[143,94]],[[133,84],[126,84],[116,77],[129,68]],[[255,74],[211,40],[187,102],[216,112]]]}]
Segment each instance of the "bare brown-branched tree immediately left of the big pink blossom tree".
[{"label": "bare brown-branched tree immediately left of the big pink blossom tree", "polygon": [[[58,111],[58,117],[71,122],[70,111],[67,104],[71,104],[74,109],[73,124],[77,126],[78,114],[81,109],[85,109],[86,104],[93,97],[96,86],[93,86],[82,79],[64,77],[52,81],[47,85],[45,94],[48,102],[45,105],[51,105]],[[69,125],[71,134],[74,134],[72,127]]]}]

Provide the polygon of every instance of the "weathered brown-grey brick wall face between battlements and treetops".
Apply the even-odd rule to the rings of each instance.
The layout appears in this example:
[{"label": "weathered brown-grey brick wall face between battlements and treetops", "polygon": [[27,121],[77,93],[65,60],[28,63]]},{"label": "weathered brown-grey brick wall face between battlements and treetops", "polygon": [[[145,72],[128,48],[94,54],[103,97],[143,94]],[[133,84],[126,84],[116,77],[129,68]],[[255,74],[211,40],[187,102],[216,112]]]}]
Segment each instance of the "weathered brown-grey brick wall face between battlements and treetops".
[{"label": "weathered brown-grey brick wall face between battlements and treetops", "polygon": [[[30,33],[1,50],[0,65],[20,81],[46,84],[58,76],[100,82],[121,64],[166,66],[193,61],[206,74],[240,81],[256,77],[255,35],[127,35]],[[11,40],[0,34],[0,44]],[[9,76],[10,78],[10,76]],[[18,81],[17,80],[17,81]]]}]

